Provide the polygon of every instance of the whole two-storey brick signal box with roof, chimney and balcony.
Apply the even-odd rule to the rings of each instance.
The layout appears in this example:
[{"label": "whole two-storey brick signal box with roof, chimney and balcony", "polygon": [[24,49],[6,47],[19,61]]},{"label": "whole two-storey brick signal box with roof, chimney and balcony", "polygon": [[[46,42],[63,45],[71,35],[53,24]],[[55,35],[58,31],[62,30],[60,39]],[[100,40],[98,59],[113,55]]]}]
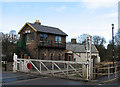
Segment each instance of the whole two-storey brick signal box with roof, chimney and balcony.
[{"label": "whole two-storey brick signal box with roof, chimney and balcony", "polygon": [[19,31],[22,58],[64,60],[66,36],[59,28],[41,25],[39,21],[26,23]]}]

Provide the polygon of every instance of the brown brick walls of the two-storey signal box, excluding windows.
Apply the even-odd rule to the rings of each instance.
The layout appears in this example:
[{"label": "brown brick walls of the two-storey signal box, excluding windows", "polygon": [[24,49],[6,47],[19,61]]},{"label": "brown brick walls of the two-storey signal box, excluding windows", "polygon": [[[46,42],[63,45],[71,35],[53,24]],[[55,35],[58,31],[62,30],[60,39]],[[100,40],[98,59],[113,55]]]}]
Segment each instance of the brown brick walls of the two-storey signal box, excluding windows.
[{"label": "brown brick walls of the two-storey signal box, excluding windows", "polygon": [[[23,33],[26,30],[30,30],[31,32],[34,32],[34,40],[26,42],[26,48],[27,51],[30,53],[32,59],[41,59],[42,54],[44,53],[46,55],[45,59],[51,59],[51,54],[53,54],[53,60],[64,60],[65,59],[65,49],[61,48],[43,48],[38,46],[38,42],[40,40],[40,33],[35,32],[32,28],[29,26],[25,26],[25,28],[21,32],[21,41],[23,41]],[[55,36],[53,34],[47,34],[48,40],[55,41]],[[62,43],[66,42],[66,36],[61,36]]]}]

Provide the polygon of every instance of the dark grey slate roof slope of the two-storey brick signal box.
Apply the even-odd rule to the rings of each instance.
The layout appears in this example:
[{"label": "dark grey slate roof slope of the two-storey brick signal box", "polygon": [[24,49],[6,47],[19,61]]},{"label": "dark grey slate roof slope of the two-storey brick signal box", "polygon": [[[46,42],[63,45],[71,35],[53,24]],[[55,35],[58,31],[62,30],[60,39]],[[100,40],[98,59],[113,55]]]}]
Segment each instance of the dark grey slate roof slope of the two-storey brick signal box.
[{"label": "dark grey slate roof slope of the two-storey brick signal box", "polygon": [[44,33],[51,33],[51,34],[68,36],[66,33],[64,33],[59,28],[50,27],[50,26],[44,26],[44,25],[38,25],[38,24],[34,24],[34,23],[29,23],[29,24],[33,28],[35,28],[38,32],[44,32]]}]

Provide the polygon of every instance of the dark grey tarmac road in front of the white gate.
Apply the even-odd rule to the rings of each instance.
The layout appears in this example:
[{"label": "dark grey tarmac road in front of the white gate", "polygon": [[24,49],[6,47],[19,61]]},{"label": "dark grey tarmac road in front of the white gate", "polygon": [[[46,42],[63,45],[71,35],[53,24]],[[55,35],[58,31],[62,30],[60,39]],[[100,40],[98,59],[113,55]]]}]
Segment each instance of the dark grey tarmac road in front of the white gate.
[{"label": "dark grey tarmac road in front of the white gate", "polygon": [[[2,85],[92,85],[92,87],[104,86],[95,82],[83,82],[47,77],[43,75],[32,75],[25,73],[2,72]],[[105,87],[118,87],[119,80],[105,84]]]}]

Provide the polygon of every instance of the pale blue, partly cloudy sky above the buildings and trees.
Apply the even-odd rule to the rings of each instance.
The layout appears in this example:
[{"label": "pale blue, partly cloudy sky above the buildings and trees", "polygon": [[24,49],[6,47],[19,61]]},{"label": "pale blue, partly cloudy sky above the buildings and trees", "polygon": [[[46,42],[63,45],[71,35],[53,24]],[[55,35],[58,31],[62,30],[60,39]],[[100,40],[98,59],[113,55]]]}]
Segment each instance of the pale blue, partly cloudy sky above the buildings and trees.
[{"label": "pale blue, partly cloudy sky above the buildings and trees", "polygon": [[40,20],[42,25],[60,28],[67,41],[81,34],[112,39],[112,27],[118,30],[119,0],[2,0],[0,32],[17,32],[26,22]]}]

